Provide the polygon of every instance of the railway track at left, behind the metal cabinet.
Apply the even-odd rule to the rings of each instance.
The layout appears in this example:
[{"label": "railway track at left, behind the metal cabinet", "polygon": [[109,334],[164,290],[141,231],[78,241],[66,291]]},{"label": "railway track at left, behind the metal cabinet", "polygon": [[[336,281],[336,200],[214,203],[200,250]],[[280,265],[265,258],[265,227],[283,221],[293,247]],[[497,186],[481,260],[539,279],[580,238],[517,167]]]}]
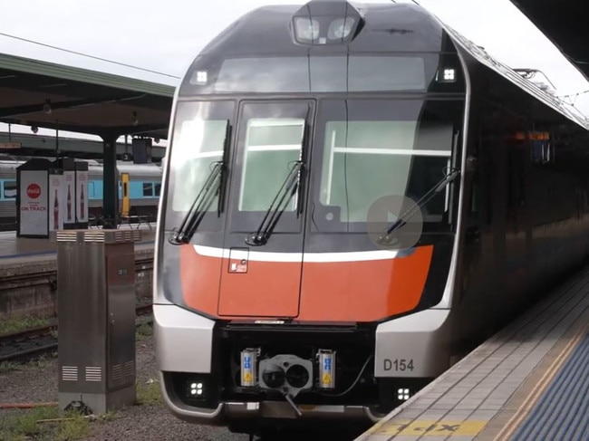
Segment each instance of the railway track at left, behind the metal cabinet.
[{"label": "railway track at left, behind the metal cabinet", "polygon": [[[150,314],[151,304],[135,308],[137,317]],[[143,321],[145,322],[145,321]],[[57,350],[57,325],[0,335],[0,363],[31,360]]]}]

